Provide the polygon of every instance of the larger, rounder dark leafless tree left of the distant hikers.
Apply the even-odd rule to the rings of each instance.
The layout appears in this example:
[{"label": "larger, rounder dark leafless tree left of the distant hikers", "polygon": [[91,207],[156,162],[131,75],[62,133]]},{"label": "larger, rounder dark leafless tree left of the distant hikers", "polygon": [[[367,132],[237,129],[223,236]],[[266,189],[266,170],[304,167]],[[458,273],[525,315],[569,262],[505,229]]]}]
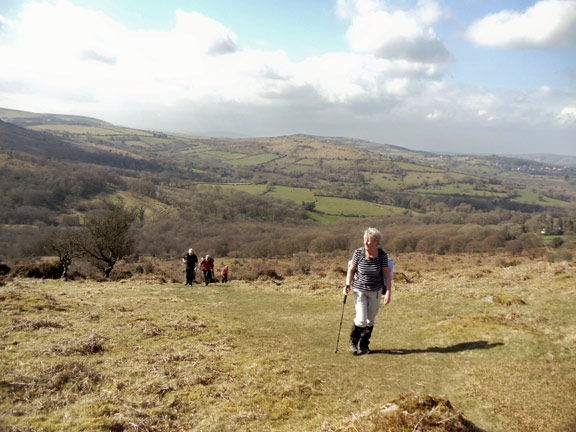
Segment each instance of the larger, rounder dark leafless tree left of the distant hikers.
[{"label": "larger, rounder dark leafless tree left of the distant hikers", "polygon": [[136,212],[123,206],[112,206],[86,219],[86,230],[79,238],[80,250],[107,278],[119,260],[134,252],[130,228],[135,219]]}]

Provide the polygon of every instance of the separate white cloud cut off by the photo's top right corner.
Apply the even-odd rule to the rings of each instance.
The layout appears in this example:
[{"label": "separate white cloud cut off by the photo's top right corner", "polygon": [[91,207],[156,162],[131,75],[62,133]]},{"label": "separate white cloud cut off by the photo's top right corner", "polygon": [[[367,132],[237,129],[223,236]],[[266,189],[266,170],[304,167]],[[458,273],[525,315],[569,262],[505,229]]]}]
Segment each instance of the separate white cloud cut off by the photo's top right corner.
[{"label": "separate white cloud cut off by the photo's top right corner", "polygon": [[520,13],[504,10],[474,22],[467,37],[478,45],[547,48],[576,45],[576,1],[542,0]]}]

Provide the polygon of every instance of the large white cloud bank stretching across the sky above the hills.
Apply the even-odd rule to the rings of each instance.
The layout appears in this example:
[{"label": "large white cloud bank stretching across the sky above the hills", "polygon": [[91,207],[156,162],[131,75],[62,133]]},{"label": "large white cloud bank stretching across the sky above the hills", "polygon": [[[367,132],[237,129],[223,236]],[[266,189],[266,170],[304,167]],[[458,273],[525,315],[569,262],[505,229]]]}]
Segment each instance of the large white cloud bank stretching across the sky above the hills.
[{"label": "large white cloud bank stretching across the sky above the hills", "polygon": [[436,1],[409,10],[338,5],[350,20],[350,51],[294,62],[281,50],[243,48],[232,29],[196,12],[177,11],[167,30],[133,31],[66,1],[28,3],[0,31],[0,105],[148,129],[305,132],[414,148],[446,149],[465,133],[479,141],[486,127],[531,130],[527,139],[535,127],[573,131],[574,94],[443,82]]}]

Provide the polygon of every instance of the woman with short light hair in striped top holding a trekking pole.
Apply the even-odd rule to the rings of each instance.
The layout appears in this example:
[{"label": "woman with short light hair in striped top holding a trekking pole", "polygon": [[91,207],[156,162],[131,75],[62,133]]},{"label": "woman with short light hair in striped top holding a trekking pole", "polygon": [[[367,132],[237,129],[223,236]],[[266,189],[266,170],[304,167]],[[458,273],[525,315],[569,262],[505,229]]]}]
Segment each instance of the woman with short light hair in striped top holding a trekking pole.
[{"label": "woman with short light hair in striped top holding a trekking pole", "polygon": [[350,352],[354,355],[358,354],[358,343],[362,354],[370,354],[370,336],[383,293],[384,304],[390,303],[392,279],[388,254],[379,247],[381,240],[382,233],[376,228],[364,231],[364,247],[354,251],[346,274],[344,295],[348,295],[350,286],[353,285],[356,308],[354,325],[350,332]]}]

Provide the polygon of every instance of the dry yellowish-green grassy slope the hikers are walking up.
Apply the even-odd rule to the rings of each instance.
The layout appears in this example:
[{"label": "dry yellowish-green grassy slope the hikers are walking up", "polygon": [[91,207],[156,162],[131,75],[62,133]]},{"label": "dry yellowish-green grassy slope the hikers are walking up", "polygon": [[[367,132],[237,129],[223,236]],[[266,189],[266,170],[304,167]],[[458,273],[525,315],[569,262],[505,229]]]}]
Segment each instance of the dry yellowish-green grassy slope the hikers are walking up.
[{"label": "dry yellowish-green grassy slope the hikers are walking up", "polygon": [[332,268],[345,257],[281,282],[192,289],[10,282],[0,288],[0,425],[367,431],[362,413],[416,392],[448,398],[490,431],[570,430],[573,265],[396,258],[376,352],[362,357],[345,352],[352,302],[334,353],[343,276]]}]

